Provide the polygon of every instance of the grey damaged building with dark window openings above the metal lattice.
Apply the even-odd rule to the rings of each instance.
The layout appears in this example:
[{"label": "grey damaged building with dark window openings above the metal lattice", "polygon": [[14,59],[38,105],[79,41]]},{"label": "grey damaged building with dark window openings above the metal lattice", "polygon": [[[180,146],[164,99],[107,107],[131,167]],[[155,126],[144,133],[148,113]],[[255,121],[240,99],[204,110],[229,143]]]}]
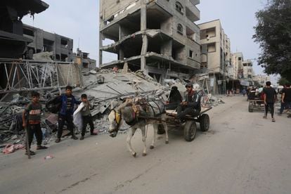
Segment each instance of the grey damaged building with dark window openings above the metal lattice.
[{"label": "grey damaged building with dark window openings above the metal lattice", "polygon": [[58,34],[46,32],[37,27],[23,25],[23,36],[33,41],[27,45],[25,58],[32,59],[34,53],[53,52],[52,59],[71,62],[73,58],[73,40]]}]

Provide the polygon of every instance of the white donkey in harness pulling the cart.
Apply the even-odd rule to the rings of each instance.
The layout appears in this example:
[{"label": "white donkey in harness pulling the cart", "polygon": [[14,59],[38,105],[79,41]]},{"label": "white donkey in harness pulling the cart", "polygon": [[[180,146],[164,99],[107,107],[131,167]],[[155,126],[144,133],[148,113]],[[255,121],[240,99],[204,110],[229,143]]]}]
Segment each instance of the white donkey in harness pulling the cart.
[{"label": "white donkey in harness pulling the cart", "polygon": [[[138,117],[136,115],[136,112],[134,111],[134,105],[131,103],[130,99],[127,99],[124,103],[119,105],[117,108],[114,108],[111,110],[110,114],[108,115],[109,119],[109,133],[110,136],[115,137],[117,136],[117,132],[119,130],[119,127],[122,125],[123,120],[129,124],[130,131],[127,136],[127,148],[131,152],[131,155],[136,157],[136,151],[131,146],[131,138],[134,136],[134,133],[136,132],[136,129],[141,129],[142,134],[142,140],[144,143],[143,147],[143,156],[146,155],[146,144],[145,144],[145,138],[146,138],[146,130],[145,125],[147,124],[153,124],[154,129],[154,138],[153,142],[150,145],[150,149],[155,148],[155,141],[157,139],[157,128],[158,124],[162,124],[165,131],[165,137],[166,141],[165,143],[169,143],[168,138],[168,129],[167,129],[167,123],[165,122],[166,119],[166,113],[164,108],[164,103],[162,101],[152,101],[149,103],[146,103],[146,116],[143,115],[143,117]],[[143,111],[143,110],[142,110]],[[145,118],[147,117],[147,118]],[[159,117],[159,119],[155,119]]]}]

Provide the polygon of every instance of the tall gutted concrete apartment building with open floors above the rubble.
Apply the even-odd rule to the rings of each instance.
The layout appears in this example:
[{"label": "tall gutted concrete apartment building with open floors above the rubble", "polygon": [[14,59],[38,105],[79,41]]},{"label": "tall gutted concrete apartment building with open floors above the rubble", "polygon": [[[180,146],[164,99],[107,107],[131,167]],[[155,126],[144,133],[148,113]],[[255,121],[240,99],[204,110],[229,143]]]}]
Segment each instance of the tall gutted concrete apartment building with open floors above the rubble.
[{"label": "tall gutted concrete apartment building with open floors above the rubble", "polygon": [[[194,23],[200,20],[198,4],[199,0],[101,0],[100,67],[128,65],[157,82],[189,78],[200,69],[200,29]],[[104,63],[107,52],[115,53],[116,60]]]}]

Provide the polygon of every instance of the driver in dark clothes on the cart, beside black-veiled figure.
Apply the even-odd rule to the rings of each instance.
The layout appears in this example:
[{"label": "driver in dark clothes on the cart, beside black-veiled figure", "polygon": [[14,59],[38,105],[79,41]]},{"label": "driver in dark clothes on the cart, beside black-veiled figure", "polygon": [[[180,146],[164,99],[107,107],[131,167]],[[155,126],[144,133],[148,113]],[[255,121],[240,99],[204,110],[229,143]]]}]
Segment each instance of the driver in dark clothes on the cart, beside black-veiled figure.
[{"label": "driver in dark clothes on the cart, beside black-veiled figure", "polygon": [[193,90],[193,84],[186,84],[186,91],[187,93],[184,101],[181,102],[177,108],[178,119],[185,119],[186,115],[197,116],[201,111],[201,96],[198,91]]}]

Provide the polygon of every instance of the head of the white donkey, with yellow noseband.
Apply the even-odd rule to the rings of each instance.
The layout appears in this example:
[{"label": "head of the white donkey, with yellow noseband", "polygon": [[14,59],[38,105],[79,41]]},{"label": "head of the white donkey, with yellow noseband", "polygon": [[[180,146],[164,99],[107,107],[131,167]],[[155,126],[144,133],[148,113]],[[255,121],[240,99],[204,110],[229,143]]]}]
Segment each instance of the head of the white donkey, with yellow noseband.
[{"label": "head of the white donkey, with yellow noseband", "polygon": [[116,137],[119,127],[122,124],[122,115],[121,113],[117,112],[116,110],[111,110],[110,114],[108,115],[109,120],[109,130],[111,137]]}]

